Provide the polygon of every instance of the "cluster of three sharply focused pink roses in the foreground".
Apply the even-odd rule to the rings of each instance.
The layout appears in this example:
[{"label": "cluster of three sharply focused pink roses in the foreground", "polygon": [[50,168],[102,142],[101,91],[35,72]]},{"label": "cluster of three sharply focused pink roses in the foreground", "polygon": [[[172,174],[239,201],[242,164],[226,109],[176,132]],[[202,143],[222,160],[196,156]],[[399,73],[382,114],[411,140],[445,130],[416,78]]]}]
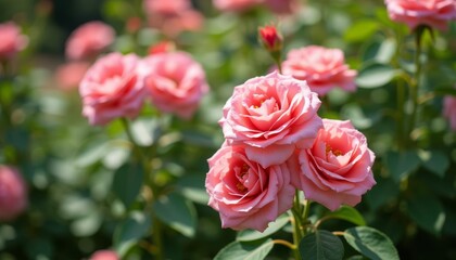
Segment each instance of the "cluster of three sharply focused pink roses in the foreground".
[{"label": "cluster of three sharply focused pink roses in the foreground", "polygon": [[321,119],[320,104],[306,81],[277,72],[235,88],[205,182],[224,227],[264,231],[296,188],[335,210],[376,184],[366,138],[350,121]]}]

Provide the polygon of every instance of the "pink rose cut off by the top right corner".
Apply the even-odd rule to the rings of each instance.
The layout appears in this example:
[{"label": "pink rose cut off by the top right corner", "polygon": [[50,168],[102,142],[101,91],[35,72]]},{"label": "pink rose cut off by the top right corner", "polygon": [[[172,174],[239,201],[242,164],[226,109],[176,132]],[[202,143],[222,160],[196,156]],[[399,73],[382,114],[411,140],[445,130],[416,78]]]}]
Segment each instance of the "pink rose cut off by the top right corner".
[{"label": "pink rose cut off by the top right corner", "polygon": [[428,25],[445,30],[447,22],[456,18],[455,0],[385,0],[390,18],[407,24],[410,29]]}]

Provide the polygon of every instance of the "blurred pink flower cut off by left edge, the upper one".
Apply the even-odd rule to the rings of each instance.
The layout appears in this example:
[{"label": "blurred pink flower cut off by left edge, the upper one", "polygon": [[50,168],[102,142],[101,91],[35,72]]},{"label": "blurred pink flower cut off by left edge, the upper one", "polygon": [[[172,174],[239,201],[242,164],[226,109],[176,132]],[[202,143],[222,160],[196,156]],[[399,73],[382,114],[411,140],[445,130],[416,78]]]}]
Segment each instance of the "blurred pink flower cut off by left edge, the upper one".
[{"label": "blurred pink flower cut off by left edge, the upper one", "polygon": [[21,28],[13,22],[0,24],[0,60],[9,60],[28,43]]}]

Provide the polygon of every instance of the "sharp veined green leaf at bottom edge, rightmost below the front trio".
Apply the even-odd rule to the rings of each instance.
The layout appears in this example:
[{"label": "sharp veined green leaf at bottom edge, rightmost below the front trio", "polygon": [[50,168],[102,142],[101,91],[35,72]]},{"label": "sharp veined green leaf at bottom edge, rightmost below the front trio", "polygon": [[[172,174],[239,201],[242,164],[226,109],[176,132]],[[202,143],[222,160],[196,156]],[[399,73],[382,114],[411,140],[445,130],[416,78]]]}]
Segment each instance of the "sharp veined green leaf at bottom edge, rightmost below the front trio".
[{"label": "sharp veined green leaf at bottom edge, rightmost below the front trio", "polygon": [[369,226],[345,230],[344,238],[354,249],[372,260],[400,259],[391,239],[380,231]]}]

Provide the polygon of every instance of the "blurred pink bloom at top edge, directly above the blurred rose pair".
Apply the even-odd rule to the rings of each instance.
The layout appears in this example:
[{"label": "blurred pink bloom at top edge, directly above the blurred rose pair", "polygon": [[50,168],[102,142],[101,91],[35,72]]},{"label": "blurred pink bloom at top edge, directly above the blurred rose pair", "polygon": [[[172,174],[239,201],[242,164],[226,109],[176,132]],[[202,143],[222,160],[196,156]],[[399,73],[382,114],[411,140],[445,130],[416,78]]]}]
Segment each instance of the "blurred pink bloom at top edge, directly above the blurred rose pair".
[{"label": "blurred pink bloom at top edge, directly above the blurred rose pair", "polygon": [[150,26],[168,37],[176,37],[182,30],[199,30],[204,21],[190,0],[145,0],[144,9]]}]

